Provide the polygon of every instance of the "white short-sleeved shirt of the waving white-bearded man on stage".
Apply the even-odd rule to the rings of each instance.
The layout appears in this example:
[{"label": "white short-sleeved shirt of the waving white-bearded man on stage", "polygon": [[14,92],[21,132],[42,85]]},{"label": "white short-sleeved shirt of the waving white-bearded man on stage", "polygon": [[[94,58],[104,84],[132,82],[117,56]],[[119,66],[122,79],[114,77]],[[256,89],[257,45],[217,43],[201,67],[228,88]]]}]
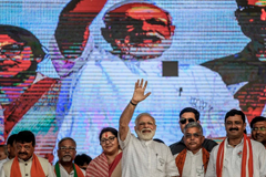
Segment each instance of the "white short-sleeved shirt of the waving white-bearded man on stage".
[{"label": "white short-sleeved shirt of the waving white-bearded man on stage", "polygon": [[122,176],[165,177],[178,176],[170,148],[154,140],[141,140],[129,129],[125,140],[119,137],[123,150]]}]

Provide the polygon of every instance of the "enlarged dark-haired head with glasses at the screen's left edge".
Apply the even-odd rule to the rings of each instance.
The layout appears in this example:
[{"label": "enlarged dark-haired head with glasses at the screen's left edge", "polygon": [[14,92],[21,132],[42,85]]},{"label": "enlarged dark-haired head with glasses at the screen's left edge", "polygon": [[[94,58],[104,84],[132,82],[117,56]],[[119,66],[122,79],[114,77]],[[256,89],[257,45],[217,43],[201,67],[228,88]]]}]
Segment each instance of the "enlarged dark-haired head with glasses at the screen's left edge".
[{"label": "enlarged dark-haired head with glasses at the screen's left edge", "polygon": [[[35,74],[37,63],[41,61],[44,52],[34,40],[35,37],[24,29],[0,25],[1,86],[18,85]],[[32,46],[38,50],[33,51]]]}]

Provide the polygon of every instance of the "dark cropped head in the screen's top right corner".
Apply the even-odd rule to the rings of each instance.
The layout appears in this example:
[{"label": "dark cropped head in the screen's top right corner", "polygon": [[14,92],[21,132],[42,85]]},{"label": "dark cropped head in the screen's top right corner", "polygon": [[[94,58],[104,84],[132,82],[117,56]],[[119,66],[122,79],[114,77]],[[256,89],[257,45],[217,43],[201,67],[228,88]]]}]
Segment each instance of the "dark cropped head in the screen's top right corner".
[{"label": "dark cropped head in the screen's top right corner", "polygon": [[266,39],[266,2],[257,0],[238,2],[235,14],[243,33],[254,41],[264,43],[264,39]]}]

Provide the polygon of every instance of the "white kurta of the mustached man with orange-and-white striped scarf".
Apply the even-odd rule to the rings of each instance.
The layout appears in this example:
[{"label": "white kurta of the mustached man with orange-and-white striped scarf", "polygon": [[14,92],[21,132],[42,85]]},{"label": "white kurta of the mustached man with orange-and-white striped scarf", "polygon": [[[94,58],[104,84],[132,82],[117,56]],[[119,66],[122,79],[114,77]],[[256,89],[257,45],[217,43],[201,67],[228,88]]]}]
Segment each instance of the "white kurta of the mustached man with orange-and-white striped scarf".
[{"label": "white kurta of the mustached man with orange-and-white striped scarf", "polygon": [[[244,139],[233,147],[225,140],[225,159],[223,167],[223,177],[241,177],[242,171],[242,152]],[[216,177],[216,159],[218,153],[218,146],[215,146],[211,153],[206,177]],[[253,177],[266,177],[266,150],[265,147],[255,140],[252,140],[253,148]],[[247,160],[248,162],[248,160]]]}]

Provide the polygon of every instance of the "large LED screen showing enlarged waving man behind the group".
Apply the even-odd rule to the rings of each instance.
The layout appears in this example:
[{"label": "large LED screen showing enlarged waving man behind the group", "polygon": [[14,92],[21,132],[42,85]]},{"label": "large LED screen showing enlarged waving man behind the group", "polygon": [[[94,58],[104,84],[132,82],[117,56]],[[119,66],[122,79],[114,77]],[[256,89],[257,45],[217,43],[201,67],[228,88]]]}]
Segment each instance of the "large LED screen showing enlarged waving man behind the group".
[{"label": "large LED screen showing enlarged waving man behind the group", "polygon": [[[0,140],[30,129],[37,154],[57,157],[63,137],[101,154],[99,133],[119,128],[134,83],[155,137],[183,136],[178,114],[201,113],[204,135],[225,136],[224,116],[265,115],[265,3],[257,0],[4,0],[0,2]],[[247,128],[248,133],[249,129]]]}]

